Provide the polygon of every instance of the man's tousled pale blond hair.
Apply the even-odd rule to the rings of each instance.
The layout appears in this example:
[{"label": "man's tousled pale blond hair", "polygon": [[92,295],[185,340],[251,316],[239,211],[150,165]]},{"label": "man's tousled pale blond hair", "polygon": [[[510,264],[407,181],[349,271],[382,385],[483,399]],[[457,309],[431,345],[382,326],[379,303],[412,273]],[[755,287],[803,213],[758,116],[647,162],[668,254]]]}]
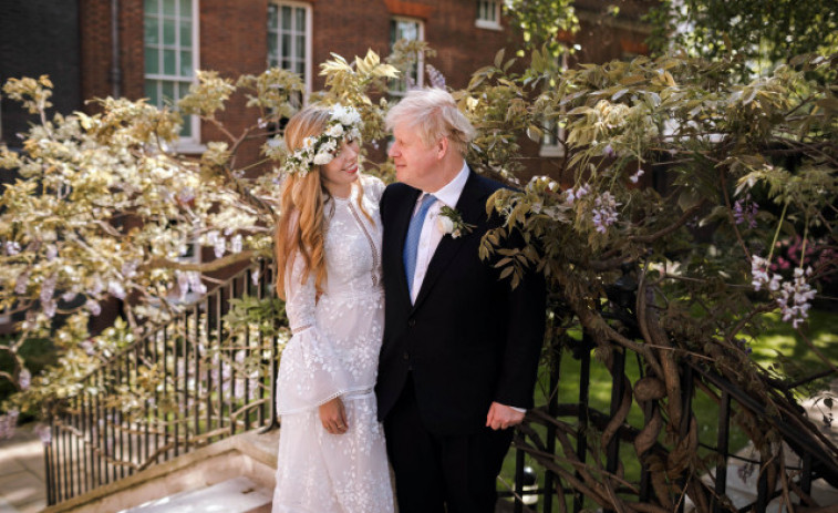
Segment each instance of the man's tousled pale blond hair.
[{"label": "man's tousled pale blond hair", "polygon": [[431,146],[441,137],[448,137],[448,142],[463,156],[475,135],[474,126],[459,112],[451,93],[438,88],[410,91],[387,112],[385,123],[390,131],[396,125],[416,130],[425,146]]}]

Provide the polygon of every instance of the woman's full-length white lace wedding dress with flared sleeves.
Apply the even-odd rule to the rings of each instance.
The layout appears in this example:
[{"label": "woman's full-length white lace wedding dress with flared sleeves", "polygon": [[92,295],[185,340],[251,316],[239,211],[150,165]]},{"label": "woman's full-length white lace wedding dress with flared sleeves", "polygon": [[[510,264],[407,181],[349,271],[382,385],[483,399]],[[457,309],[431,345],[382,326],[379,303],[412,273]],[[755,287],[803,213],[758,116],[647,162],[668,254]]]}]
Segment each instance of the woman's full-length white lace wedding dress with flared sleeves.
[{"label": "woman's full-length white lace wedding dress with flared sleeves", "polygon": [[[383,184],[361,177],[364,216],[355,201],[327,205],[328,281],[317,298],[314,278],[300,284],[298,258],[286,280],[293,337],[277,381],[281,415],[273,513],[391,513],[384,431],[376,420],[375,373],[384,325],[381,283]],[[331,214],[331,215],[329,215]],[[330,434],[318,407],[341,397],[349,429]]]}]

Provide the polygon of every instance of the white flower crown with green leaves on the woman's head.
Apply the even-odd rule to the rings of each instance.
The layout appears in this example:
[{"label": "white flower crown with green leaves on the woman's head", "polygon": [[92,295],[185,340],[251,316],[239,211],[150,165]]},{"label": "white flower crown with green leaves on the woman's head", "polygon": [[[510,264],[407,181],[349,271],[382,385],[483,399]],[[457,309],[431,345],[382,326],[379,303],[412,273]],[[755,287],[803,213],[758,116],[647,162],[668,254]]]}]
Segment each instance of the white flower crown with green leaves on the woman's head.
[{"label": "white flower crown with green leaves on the woman's head", "polygon": [[334,153],[344,140],[361,138],[363,122],[361,114],[340,103],[330,109],[331,116],[325,124],[325,131],[320,135],[310,135],[302,140],[302,146],[286,157],[282,173],[306,176],[312,165],[324,165],[332,162]]}]

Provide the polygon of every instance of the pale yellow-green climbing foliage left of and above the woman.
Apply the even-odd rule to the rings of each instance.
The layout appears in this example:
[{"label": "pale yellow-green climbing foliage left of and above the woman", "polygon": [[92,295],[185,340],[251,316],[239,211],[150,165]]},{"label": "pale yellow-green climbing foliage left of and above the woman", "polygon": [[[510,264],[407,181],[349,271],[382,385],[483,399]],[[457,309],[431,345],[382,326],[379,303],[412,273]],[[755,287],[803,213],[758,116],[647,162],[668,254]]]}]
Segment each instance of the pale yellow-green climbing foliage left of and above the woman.
[{"label": "pale yellow-green climbing foliage left of and above the woman", "polygon": [[[335,55],[323,72],[327,91],[320,100],[358,105],[364,136],[381,137],[386,103],[375,104],[368,94],[386,91],[395,68],[370,52],[352,64]],[[51,88],[42,76],[12,79],[3,89],[41,123],[27,134],[22,153],[0,148],[2,172],[20,176],[0,197],[0,310],[27,311],[15,341],[3,349],[14,368],[0,379],[17,381],[25,368],[20,348],[29,339],[52,338],[63,355],[60,367],[35,377],[18,396],[25,408],[72,394],[79,379],[126,337],[177,314],[189,289],[203,291],[197,273],[271,256],[283,146],[266,144],[266,158],[247,163],[260,166],[259,173],[247,173],[237,153],[250,138],[278,141],[281,134],[271,126],[296,112],[303,92],[300,76],[280,69],[235,82],[199,71],[177,110],[107,98],[97,100],[95,114],[48,120]],[[252,125],[240,134],[216,119],[236,94],[252,109]],[[197,115],[223,134],[206,142],[199,158],[176,152],[184,115]],[[201,246],[221,258],[185,258]],[[190,279],[184,279],[186,273]],[[89,319],[114,296],[125,299],[127,322],[89,341]],[[55,322],[59,315],[65,317]],[[154,369],[145,370],[152,382]]]}]

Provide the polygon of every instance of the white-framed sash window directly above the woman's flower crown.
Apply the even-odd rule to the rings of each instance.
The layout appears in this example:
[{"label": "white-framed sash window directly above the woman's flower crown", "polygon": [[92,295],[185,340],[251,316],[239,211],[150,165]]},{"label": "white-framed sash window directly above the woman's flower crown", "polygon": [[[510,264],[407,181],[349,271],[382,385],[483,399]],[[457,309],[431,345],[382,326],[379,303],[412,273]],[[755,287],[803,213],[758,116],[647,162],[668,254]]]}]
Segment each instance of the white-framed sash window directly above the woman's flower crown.
[{"label": "white-framed sash window directly above the woman's flower crown", "polygon": [[268,66],[293,71],[311,91],[311,7],[307,3],[268,4]]}]

